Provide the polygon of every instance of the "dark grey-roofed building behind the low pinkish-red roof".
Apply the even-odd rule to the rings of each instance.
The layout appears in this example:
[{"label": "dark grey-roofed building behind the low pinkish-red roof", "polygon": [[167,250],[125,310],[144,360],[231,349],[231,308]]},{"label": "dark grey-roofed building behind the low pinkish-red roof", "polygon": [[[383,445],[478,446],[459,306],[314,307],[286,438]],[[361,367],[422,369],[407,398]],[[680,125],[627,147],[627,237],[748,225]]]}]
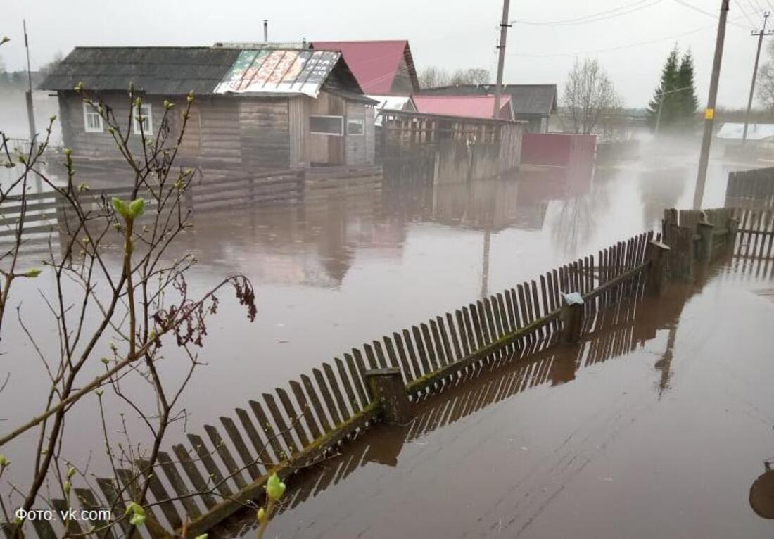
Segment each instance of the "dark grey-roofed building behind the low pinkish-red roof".
[{"label": "dark grey-roofed building behind the low pinkish-red roof", "polygon": [[[486,95],[495,93],[495,84],[457,84],[423,88],[423,95]],[[557,112],[556,84],[503,84],[503,95],[511,98],[513,118],[529,122],[529,131],[548,130],[550,115]]]}]

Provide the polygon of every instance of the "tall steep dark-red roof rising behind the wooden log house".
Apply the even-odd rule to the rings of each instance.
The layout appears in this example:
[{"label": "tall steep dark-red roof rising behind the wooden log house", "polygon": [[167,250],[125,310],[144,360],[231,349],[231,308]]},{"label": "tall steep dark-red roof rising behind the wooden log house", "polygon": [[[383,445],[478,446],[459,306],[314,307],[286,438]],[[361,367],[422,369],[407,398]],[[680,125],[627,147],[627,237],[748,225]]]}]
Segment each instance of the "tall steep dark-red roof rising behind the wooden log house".
[{"label": "tall steep dark-red roof rising behind the wooden log house", "polygon": [[358,79],[364,94],[389,95],[398,74],[400,60],[408,54],[409,75],[416,84],[409,42],[399,41],[314,41],[314,49],[341,50],[344,61]]}]

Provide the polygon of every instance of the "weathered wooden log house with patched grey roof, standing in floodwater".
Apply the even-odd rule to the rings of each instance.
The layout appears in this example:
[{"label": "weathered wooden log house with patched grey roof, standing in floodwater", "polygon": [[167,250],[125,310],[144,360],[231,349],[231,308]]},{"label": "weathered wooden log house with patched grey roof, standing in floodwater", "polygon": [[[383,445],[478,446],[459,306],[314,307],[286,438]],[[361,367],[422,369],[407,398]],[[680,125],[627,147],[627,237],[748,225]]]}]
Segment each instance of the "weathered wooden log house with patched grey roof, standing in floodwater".
[{"label": "weathered wooden log house with patched grey roof, standing in floodwater", "polygon": [[179,127],[180,108],[194,91],[181,163],[274,170],[374,162],[376,101],[363,94],[340,51],[77,47],[40,88],[57,91],[64,145],[75,156],[111,159],[118,150],[74,91],[79,81],[84,93],[127,118],[138,149],[141,126],[129,111],[129,84],[143,98],[144,132],[158,131],[165,99],[177,104],[170,128]]}]

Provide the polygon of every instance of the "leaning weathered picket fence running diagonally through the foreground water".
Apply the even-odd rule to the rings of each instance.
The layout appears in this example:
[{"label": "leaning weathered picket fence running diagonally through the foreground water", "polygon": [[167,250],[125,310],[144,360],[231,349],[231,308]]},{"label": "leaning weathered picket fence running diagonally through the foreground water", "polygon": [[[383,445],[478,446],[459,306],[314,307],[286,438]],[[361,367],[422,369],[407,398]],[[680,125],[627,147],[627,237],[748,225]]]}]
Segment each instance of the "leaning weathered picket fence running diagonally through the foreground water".
[{"label": "leaning weathered picket fence running diagonally through the foreground water", "polygon": [[[188,444],[159,455],[142,500],[150,534],[162,537],[165,529],[179,530],[185,522],[194,537],[260,499],[272,472],[287,476],[375,421],[390,421],[380,383],[385,379],[397,382],[406,404],[416,403],[493,362],[510,362],[560,341],[578,342],[597,331],[599,312],[624,297],[638,297],[652,283],[659,252],[666,249],[652,239],[652,232],[637,235],[352,348],[285,387],[248,400],[233,415],[220,417],[220,427],[207,424],[204,435],[187,434]],[[111,506],[114,514],[122,513],[121,500],[135,500],[131,495],[146,470],[146,462],[135,462],[132,469],[118,470],[118,483],[98,479],[96,487],[75,489],[75,499],[53,500],[53,506]],[[33,526],[41,537],[55,537],[50,523]]]}]

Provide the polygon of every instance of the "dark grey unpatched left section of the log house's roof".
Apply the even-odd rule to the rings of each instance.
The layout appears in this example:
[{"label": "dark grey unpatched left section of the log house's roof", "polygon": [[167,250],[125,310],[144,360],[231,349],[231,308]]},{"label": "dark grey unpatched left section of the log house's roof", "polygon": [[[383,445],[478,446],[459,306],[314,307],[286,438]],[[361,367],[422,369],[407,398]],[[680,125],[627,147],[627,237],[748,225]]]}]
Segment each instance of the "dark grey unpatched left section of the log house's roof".
[{"label": "dark grey unpatched left section of the log house's roof", "polygon": [[239,50],[211,47],[79,46],[39,84],[72,90],[126,90],[132,82],[149,94],[209,94],[234,64]]}]

